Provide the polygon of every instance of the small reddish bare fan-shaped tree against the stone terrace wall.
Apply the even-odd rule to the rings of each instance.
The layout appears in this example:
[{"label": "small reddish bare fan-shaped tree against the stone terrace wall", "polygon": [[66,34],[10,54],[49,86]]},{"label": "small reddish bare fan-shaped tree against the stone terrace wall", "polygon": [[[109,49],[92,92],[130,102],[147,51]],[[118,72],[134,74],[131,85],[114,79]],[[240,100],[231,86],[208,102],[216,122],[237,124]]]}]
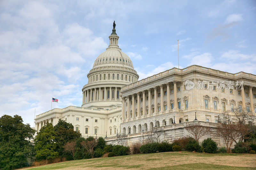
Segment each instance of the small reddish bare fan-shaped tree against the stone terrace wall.
[{"label": "small reddish bare fan-shaped tree against the stone terrace wall", "polygon": [[200,122],[193,122],[186,125],[185,129],[196,139],[199,141],[201,137],[210,133],[210,128],[200,125]]}]

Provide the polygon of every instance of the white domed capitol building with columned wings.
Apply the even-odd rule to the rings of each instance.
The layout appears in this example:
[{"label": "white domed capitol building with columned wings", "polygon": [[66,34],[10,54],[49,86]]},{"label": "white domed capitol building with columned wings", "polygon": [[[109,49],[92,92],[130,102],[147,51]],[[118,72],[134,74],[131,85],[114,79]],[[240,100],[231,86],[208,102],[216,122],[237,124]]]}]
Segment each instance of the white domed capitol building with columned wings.
[{"label": "white domed capitol building with columned wings", "polygon": [[[116,144],[117,134],[124,144],[137,142],[155,127],[164,130],[163,140],[189,135],[186,124],[196,119],[216,135],[218,115],[235,107],[256,112],[256,75],[228,73],[198,65],[184,69],[170,68],[139,79],[132,60],[118,46],[115,26],[109,46],[95,60],[83,86],[81,107],[54,108],[36,115],[36,131],[50,122],[65,120],[79,130],[82,137],[106,137]],[[239,88],[237,88],[239,85]],[[235,121],[235,120],[234,120]]]}]

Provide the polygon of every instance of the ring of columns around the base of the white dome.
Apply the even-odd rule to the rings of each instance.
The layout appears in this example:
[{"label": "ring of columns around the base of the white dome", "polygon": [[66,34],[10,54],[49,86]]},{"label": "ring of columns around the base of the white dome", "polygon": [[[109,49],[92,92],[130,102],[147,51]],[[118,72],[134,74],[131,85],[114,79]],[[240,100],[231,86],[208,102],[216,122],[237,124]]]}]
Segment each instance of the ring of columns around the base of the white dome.
[{"label": "ring of columns around the base of the white dome", "polygon": [[121,87],[95,87],[83,92],[83,104],[92,101],[120,100]]}]

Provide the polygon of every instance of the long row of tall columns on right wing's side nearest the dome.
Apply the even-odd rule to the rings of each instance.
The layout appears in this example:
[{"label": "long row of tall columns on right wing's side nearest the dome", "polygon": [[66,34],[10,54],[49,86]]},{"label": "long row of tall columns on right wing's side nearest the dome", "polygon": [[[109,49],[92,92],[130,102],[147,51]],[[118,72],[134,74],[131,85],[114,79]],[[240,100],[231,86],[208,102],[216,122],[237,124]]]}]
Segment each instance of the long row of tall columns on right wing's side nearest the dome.
[{"label": "long row of tall columns on right wing's side nearest the dome", "polygon": [[[172,82],[173,84],[173,93],[174,93],[174,102],[173,102],[173,109],[177,109],[177,81],[173,81]],[[165,84],[167,86],[167,90],[166,90],[166,93],[167,93],[167,110],[171,110],[170,108],[170,83],[166,83]],[[137,114],[138,116],[141,116],[141,112],[140,112],[140,104],[141,104],[141,93],[142,93],[142,115],[145,115],[146,113],[146,92],[148,92],[148,114],[154,114],[156,115],[156,113],[158,112],[157,111],[157,87],[160,87],[160,112],[159,113],[162,113],[164,111],[164,91],[163,91],[163,85],[159,85],[159,86],[155,86],[152,90],[152,88],[149,88],[147,90],[143,90],[141,92],[137,92]],[[151,96],[151,91],[154,92],[154,98],[152,98]],[[131,119],[131,118],[135,118],[135,94],[131,94],[131,95],[128,95],[128,96],[125,96],[125,97],[122,97],[122,120],[125,120],[126,117],[125,117],[125,110],[127,111],[127,119]],[[131,109],[130,109],[130,98],[132,97],[132,116],[130,116],[130,112],[131,112]],[[154,100],[154,113],[151,113],[151,99]],[[127,101],[127,106],[126,106],[126,101]],[[126,109],[125,109],[125,106],[126,106]]]}]

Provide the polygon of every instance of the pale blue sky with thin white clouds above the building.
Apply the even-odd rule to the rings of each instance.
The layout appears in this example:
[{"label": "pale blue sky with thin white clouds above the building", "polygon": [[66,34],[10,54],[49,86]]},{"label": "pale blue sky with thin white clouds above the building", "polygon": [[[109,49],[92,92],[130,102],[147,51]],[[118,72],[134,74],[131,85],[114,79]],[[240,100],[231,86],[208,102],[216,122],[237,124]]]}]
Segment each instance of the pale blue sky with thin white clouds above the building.
[{"label": "pale blue sky with thin white clouds above the building", "polygon": [[141,78],[192,64],[256,74],[256,1],[1,1],[0,116],[33,126],[53,107],[81,106],[82,87],[108,47]]}]

